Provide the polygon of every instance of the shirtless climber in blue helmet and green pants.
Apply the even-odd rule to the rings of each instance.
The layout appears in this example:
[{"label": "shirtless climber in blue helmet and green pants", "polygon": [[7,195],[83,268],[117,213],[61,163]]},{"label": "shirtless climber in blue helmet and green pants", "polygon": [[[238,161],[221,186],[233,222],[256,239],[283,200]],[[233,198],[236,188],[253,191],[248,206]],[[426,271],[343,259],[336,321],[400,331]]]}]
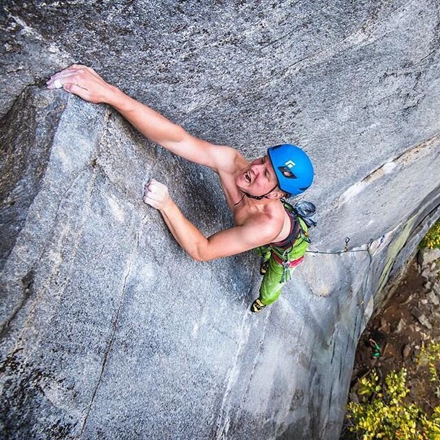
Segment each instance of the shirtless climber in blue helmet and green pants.
[{"label": "shirtless climber in blue helmet and green pants", "polygon": [[281,199],[298,195],[311,185],[314,170],[307,154],[297,146],[268,148],[252,162],[230,146],[214,145],[188,134],[150,107],[106,83],[83,65],[51,76],[49,89],[63,89],[94,103],[111,105],[149,140],[219,175],[234,227],[206,238],[177,208],[168,188],[151,179],[144,202],[159,210],[170,232],[197,261],[209,261],[254,248],[263,256],[264,274],[259,298],[251,305],[257,312],[274,303],[294,267],[303,261],[309,239],[307,225]]}]

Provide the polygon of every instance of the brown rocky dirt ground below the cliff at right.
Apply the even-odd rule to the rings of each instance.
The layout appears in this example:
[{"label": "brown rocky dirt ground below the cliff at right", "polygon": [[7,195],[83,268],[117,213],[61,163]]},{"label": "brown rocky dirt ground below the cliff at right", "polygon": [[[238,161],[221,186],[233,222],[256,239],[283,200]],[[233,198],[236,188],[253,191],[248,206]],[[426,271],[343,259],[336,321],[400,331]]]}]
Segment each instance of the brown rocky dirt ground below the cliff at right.
[{"label": "brown rocky dirt ground below the cliff at right", "polygon": [[[438,267],[419,273],[419,265],[412,261],[406,277],[388,301],[384,309],[370,320],[360,338],[355,354],[349,401],[357,399],[358,380],[375,369],[383,380],[392,371],[405,367],[408,371],[409,399],[417,402],[428,414],[432,407],[440,404],[430,382],[426,366],[418,366],[417,355],[423,344],[430,340],[440,341],[440,297],[434,292],[432,275],[438,276]],[[439,263],[437,263],[439,266]],[[428,281],[430,276],[431,281]],[[373,357],[373,342],[380,347],[380,356]],[[374,344],[373,344],[374,345]],[[353,434],[343,430],[342,439],[353,439]]]}]

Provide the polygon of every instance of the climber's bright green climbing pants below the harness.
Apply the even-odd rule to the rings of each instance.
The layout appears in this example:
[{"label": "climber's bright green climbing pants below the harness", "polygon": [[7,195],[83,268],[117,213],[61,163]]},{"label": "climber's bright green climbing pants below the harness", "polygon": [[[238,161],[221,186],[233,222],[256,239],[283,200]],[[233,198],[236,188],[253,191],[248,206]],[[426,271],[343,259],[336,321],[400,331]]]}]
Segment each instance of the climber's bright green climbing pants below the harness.
[{"label": "climber's bright green climbing pants below the harness", "polygon": [[300,264],[303,259],[302,256],[296,256],[296,261],[292,261],[293,265],[287,269],[289,274],[286,276],[285,268],[276,261],[274,254],[272,254],[269,248],[261,246],[261,248],[256,248],[256,253],[263,257],[263,261],[268,262],[266,273],[263,276],[263,281],[261,281],[259,299],[261,303],[270,305],[278,299],[283,286],[290,279],[295,267]]}]

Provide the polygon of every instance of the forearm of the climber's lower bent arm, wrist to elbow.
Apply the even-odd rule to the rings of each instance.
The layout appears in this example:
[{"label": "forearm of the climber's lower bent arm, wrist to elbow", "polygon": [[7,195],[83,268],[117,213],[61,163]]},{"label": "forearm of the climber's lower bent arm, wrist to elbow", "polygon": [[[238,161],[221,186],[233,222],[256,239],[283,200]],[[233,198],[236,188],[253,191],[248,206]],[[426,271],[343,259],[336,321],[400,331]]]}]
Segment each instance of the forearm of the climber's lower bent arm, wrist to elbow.
[{"label": "forearm of the climber's lower bent arm, wrist to elbow", "polygon": [[206,248],[208,239],[193,225],[173,200],[159,210],[164,217],[171,234],[173,234],[177,243],[181,245],[191,257],[197,261],[203,261],[201,250]]}]

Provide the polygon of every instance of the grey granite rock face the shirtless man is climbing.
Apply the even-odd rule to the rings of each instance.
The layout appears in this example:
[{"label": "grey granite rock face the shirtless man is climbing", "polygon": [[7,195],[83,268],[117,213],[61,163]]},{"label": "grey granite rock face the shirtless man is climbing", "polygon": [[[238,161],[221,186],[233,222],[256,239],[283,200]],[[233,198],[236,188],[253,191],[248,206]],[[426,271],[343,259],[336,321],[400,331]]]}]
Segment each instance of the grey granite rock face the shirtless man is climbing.
[{"label": "grey granite rock face the shirtless man is climbing", "polygon": [[[439,5],[3,2],[5,439],[338,439],[355,347],[439,217]],[[313,251],[258,316],[252,253],[197,263],[142,202],[203,234],[214,173],[44,80],[85,63],[190,133],[314,159]],[[359,252],[358,252],[359,251]],[[368,251],[368,252],[367,252]]]}]

